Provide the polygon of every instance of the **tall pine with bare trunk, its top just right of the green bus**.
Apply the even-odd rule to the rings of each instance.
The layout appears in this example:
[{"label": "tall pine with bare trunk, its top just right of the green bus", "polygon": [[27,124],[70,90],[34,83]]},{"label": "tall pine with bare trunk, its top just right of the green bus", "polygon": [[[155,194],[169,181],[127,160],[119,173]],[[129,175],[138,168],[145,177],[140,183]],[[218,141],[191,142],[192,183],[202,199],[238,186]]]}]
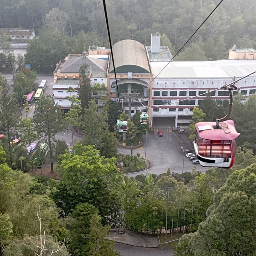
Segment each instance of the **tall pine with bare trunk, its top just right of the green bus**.
[{"label": "tall pine with bare trunk, its top just right of the green bus", "polygon": [[34,112],[34,123],[40,140],[49,146],[51,172],[53,172],[55,135],[64,130],[63,120],[60,107],[54,104],[50,96],[42,96]]}]

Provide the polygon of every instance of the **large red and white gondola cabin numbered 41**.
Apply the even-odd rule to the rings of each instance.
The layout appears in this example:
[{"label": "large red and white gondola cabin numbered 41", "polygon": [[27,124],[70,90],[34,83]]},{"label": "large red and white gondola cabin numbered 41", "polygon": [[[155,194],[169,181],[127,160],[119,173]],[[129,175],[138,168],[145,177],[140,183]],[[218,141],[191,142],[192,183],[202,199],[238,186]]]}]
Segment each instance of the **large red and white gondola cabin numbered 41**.
[{"label": "large red and white gondola cabin numbered 41", "polygon": [[230,168],[236,158],[236,132],[233,120],[220,122],[199,122],[196,124],[194,150],[204,167]]}]

